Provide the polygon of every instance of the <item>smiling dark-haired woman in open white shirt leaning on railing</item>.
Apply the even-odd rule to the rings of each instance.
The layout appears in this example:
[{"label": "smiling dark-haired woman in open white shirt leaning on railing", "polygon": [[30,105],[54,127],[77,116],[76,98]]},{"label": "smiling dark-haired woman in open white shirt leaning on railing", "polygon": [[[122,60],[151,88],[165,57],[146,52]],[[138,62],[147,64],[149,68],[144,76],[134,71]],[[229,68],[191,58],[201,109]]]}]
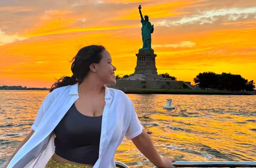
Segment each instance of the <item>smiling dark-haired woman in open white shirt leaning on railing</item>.
[{"label": "smiling dark-haired woman in open white shirt leaning on railing", "polygon": [[32,131],[5,167],[114,168],[114,153],[126,136],[154,165],[174,168],[175,159],[158,155],[128,96],[106,87],[116,84],[109,52],[90,45],[72,61],[73,75],[52,85]]}]

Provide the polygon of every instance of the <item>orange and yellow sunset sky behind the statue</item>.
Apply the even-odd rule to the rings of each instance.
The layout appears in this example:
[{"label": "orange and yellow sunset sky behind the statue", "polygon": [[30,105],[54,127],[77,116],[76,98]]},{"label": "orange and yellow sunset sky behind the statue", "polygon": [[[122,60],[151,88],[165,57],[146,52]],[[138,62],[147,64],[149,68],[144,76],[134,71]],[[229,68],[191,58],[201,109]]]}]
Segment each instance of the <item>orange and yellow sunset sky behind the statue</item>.
[{"label": "orange and yellow sunset sky behind the statue", "polygon": [[110,52],[116,75],[133,73],[139,4],[154,24],[158,74],[191,84],[205,71],[256,81],[255,0],[8,0],[0,1],[0,86],[50,88],[91,44]]}]

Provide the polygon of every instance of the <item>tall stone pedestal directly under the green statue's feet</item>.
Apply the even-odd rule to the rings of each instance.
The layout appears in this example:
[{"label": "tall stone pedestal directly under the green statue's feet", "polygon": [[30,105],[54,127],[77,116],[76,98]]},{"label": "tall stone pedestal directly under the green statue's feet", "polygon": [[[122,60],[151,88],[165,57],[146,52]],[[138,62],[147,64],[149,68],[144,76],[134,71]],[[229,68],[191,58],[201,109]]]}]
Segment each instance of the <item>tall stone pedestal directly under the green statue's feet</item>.
[{"label": "tall stone pedestal directly under the green statue's feet", "polygon": [[155,67],[155,57],[153,49],[139,49],[137,56],[137,65],[134,74],[153,74],[157,75],[157,68]]}]

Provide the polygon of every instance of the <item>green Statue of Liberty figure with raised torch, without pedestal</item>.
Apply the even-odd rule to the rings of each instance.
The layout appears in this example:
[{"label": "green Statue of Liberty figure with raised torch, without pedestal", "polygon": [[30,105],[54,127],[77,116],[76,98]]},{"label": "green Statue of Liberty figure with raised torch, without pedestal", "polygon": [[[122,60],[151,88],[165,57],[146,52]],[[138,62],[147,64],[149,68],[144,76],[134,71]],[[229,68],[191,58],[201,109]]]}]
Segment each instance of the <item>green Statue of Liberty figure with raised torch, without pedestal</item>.
[{"label": "green Statue of Liberty figure with raised torch, without pedestal", "polygon": [[143,19],[143,16],[142,16],[142,13],[141,13],[141,5],[139,5],[139,12],[140,12],[140,18],[141,18],[141,23],[142,23],[142,28],[141,28],[141,31],[142,31],[142,41],[143,41],[143,47],[140,48],[139,50],[142,50],[142,49],[151,49],[151,33],[154,32],[154,24],[151,25],[151,23],[148,21],[148,16],[147,15],[144,15],[144,18]]}]

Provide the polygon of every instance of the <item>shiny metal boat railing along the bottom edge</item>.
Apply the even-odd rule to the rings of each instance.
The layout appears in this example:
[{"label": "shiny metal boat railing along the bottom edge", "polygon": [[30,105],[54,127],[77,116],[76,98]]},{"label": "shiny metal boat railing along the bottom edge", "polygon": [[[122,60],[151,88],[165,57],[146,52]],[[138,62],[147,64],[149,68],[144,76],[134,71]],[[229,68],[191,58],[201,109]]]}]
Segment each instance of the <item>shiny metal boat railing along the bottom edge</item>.
[{"label": "shiny metal boat railing along the bottom edge", "polygon": [[[119,161],[115,161],[116,167],[128,168],[127,165]],[[174,167],[256,167],[256,161],[175,161],[172,163]],[[154,168],[157,168],[156,166]]]}]

